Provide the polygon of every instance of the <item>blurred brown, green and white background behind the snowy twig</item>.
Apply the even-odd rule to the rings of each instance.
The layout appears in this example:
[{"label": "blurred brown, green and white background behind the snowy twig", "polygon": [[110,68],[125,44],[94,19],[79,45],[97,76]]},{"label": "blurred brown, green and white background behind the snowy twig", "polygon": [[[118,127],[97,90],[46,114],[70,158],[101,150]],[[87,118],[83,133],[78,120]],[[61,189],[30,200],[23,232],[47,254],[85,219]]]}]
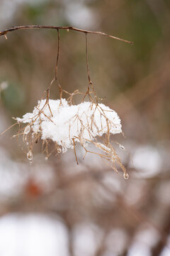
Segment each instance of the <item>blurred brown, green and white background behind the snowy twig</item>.
[{"label": "blurred brown, green and white background behind the snowy twig", "polygon": [[[89,35],[89,68],[98,97],[118,112],[125,138],[113,137],[130,178],[77,148],[33,163],[26,146],[0,137],[1,256],[169,256],[168,0],[1,0],[0,31],[19,25],[76,26]],[[86,92],[84,34],[60,31],[59,80]],[[0,38],[0,133],[32,112],[54,76],[57,33],[25,30]],[[50,97],[59,93],[53,85]],[[79,99],[77,99],[79,100]],[[21,144],[21,145],[18,145]],[[116,146],[116,144],[115,144]]]}]

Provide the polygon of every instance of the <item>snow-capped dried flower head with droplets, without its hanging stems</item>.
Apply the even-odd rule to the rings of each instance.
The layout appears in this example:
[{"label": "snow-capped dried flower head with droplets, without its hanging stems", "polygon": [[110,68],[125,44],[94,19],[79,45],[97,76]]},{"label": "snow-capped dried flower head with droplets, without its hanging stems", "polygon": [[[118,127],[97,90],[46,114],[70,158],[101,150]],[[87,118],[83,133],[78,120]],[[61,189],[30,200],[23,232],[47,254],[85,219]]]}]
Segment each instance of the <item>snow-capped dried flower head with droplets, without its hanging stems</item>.
[{"label": "snow-capped dried flower head with droplets, without its hanging stems", "polygon": [[[93,143],[102,154],[102,159],[117,171],[116,164],[123,170],[124,178],[128,178],[123,164],[109,142],[111,134],[122,132],[118,114],[106,105],[94,102],[81,102],[79,105],[69,105],[67,100],[40,100],[32,113],[27,113],[23,118],[16,118],[19,124],[26,124],[19,134],[23,134],[23,141],[28,145],[27,157],[33,159],[33,145],[42,139],[46,158],[52,154],[48,151],[48,143],[55,143],[55,152],[64,153],[67,149],[74,149],[76,155],[76,143],[79,142],[87,152],[88,144]],[[18,135],[19,135],[18,134]],[[98,142],[98,137],[103,137],[103,143]],[[122,148],[122,147],[121,147]],[[123,148],[124,149],[124,148]],[[84,155],[84,157],[85,157]],[[77,160],[78,163],[78,160]]]}]

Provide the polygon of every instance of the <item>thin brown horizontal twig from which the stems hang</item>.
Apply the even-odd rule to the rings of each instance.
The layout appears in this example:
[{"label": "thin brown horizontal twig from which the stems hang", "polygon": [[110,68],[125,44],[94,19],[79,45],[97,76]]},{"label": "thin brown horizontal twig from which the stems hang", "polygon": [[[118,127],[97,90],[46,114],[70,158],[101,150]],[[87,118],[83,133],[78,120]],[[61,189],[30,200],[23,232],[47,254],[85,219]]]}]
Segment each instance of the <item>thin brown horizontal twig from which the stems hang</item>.
[{"label": "thin brown horizontal twig from which the stems hang", "polygon": [[98,34],[98,35],[101,35],[101,36],[108,36],[109,38],[113,38],[113,39],[117,39],[119,41],[123,41],[125,43],[130,43],[132,44],[133,42],[130,42],[130,41],[127,41],[125,39],[122,39],[122,38],[118,38],[116,36],[111,36],[111,35],[108,35],[106,33],[103,33],[103,32],[99,32],[99,31],[88,31],[88,30],[84,30],[84,29],[81,29],[81,28],[74,28],[72,26],[42,26],[42,25],[27,25],[27,26],[13,26],[12,28],[8,28],[8,29],[5,29],[4,31],[0,31],[0,36],[6,36],[6,34],[8,32],[12,32],[12,31],[16,31],[16,30],[20,30],[20,29],[30,29],[30,28],[51,28],[51,29],[63,29],[63,30],[73,30],[73,31],[78,31],[78,32],[81,32],[81,33],[94,33],[94,34]]}]

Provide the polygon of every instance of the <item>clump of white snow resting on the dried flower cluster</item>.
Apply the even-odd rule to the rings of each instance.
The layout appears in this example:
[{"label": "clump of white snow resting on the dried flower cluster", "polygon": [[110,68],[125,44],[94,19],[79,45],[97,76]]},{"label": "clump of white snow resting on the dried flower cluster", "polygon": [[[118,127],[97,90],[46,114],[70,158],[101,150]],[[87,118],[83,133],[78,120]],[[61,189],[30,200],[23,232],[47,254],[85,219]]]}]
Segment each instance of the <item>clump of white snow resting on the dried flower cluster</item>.
[{"label": "clump of white snow resting on the dried flower cluster", "polygon": [[42,140],[51,139],[62,147],[64,153],[74,147],[74,142],[86,146],[96,136],[122,132],[118,114],[106,105],[82,102],[68,105],[67,100],[40,100],[33,113],[27,113],[18,122],[28,123]]}]

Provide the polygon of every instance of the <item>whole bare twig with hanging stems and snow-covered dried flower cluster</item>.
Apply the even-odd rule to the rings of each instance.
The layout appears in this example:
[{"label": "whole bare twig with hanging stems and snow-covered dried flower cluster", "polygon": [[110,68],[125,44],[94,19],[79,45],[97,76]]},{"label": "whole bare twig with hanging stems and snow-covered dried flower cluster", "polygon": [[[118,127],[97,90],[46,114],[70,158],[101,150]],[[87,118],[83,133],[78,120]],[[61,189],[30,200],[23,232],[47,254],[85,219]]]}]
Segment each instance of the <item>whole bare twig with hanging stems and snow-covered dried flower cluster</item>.
[{"label": "whole bare twig with hanging stems and snow-covered dried flower cluster", "polygon": [[[122,132],[120,118],[114,110],[106,107],[106,105],[98,103],[98,97],[96,96],[94,85],[91,82],[89,75],[87,34],[96,33],[127,43],[132,42],[97,31],[85,31],[79,28],[58,26],[17,26],[1,31],[0,36],[4,35],[6,37],[6,34],[10,31],[28,28],[53,28],[57,30],[58,39],[55,77],[45,91],[45,93],[47,93],[46,100],[43,100],[44,97],[42,97],[38,102],[38,105],[34,108],[33,113],[27,113],[23,118],[16,118],[16,124],[20,124],[20,129],[18,130],[18,134],[13,135],[13,137],[18,138],[18,135],[23,134],[23,142],[26,142],[26,145],[28,146],[28,160],[32,161],[33,146],[41,139],[42,153],[46,154],[45,159],[48,159],[53,151],[55,151],[56,154],[59,154],[61,152],[64,153],[67,149],[71,148],[74,149],[74,154],[78,164],[76,153],[76,143],[78,142],[85,150],[84,157],[88,152],[98,154],[101,156],[101,159],[105,160],[106,163],[116,172],[118,172],[118,167],[122,169],[124,178],[128,178],[129,176],[125,167],[121,163],[118,154],[116,154],[115,149],[110,142],[111,134],[118,134]],[[75,90],[72,93],[62,90],[58,81],[57,68],[60,55],[60,29],[67,31],[74,30],[85,34],[86,70],[89,80],[89,85],[87,86],[85,93],[79,92],[79,90]],[[50,87],[54,82],[59,87],[60,100],[50,100]],[[67,100],[62,98],[63,92],[69,95]],[[74,105],[74,95],[83,95],[83,99],[79,105]],[[89,102],[84,102],[86,97],[89,98]],[[21,128],[21,124],[25,124],[25,126]],[[14,125],[15,124],[11,127]],[[98,141],[98,137],[103,139],[103,143]],[[50,152],[48,146],[49,142],[54,142],[55,144],[55,149]],[[96,148],[100,149],[102,154],[86,149],[89,143],[94,144]],[[120,145],[120,149],[124,150],[125,148]]]}]

